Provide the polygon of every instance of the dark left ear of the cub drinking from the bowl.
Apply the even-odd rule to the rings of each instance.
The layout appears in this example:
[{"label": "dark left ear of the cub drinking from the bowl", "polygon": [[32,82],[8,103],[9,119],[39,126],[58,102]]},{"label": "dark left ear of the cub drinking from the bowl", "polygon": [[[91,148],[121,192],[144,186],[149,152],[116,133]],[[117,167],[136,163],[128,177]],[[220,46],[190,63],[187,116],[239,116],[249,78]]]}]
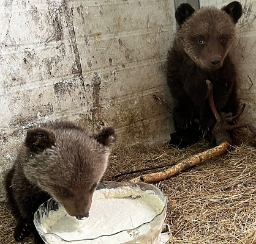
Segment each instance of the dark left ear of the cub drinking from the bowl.
[{"label": "dark left ear of the cub drinking from the bowl", "polygon": [[30,151],[39,153],[55,145],[55,134],[42,127],[28,129],[25,146]]}]

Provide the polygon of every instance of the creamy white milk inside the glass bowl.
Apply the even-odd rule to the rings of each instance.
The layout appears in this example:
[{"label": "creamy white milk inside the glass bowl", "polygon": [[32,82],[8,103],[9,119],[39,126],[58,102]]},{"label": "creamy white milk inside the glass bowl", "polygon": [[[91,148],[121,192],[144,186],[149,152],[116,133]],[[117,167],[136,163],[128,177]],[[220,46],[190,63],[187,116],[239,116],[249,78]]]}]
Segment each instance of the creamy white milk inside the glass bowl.
[{"label": "creamy white milk inside the glass bowl", "polygon": [[[95,239],[101,235],[128,230],[124,234],[124,240],[121,240],[122,243],[128,243],[135,235],[134,231],[129,229],[135,229],[151,221],[163,208],[164,203],[152,190],[144,192],[137,187],[104,188],[94,192],[89,217],[86,220],[70,217],[60,207],[59,210],[50,213],[42,224],[47,232],[55,233],[67,241]],[[128,237],[127,233],[130,233]],[[121,243],[120,234],[118,238],[117,243]]]}]

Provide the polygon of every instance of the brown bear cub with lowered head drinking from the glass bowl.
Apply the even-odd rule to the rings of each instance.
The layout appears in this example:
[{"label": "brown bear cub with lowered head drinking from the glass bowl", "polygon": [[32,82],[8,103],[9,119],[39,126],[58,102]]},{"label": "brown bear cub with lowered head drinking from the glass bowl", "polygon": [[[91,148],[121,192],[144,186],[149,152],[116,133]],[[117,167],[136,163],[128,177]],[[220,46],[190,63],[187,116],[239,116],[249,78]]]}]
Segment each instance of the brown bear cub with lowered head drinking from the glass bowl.
[{"label": "brown bear cub with lowered head drinking from the glass bowl", "polygon": [[88,217],[92,194],[108,163],[116,134],[105,127],[97,134],[71,122],[29,129],[12,169],[6,176],[7,198],[17,226],[15,240],[34,234],[34,213],[51,197],[78,220]]}]

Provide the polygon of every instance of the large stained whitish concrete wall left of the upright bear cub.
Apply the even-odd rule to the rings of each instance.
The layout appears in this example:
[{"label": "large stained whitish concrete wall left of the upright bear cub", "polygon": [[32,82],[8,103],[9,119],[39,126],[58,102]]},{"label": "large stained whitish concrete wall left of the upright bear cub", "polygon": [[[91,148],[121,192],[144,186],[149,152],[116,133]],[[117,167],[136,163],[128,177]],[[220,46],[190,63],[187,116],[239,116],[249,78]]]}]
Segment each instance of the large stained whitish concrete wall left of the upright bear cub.
[{"label": "large stained whitish concrete wall left of the upright bear cub", "polygon": [[166,142],[164,77],[176,24],[169,0],[0,2],[2,179],[28,127],[113,126],[118,143]]}]

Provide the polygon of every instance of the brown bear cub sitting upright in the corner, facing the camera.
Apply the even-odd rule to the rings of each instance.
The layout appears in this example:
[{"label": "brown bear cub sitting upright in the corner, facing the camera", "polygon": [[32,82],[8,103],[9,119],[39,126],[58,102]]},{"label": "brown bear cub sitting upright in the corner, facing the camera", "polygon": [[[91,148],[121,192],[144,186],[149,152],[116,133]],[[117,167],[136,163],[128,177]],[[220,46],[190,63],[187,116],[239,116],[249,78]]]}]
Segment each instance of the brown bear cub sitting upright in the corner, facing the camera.
[{"label": "brown bear cub sitting upright in the corner, facing the camera", "polygon": [[215,118],[209,107],[206,79],[213,84],[217,111],[237,112],[236,71],[228,51],[241,15],[241,4],[236,1],[222,9],[195,11],[190,4],[181,4],[176,10],[179,26],[167,60],[176,129],[170,145],[184,147],[206,132],[211,134]]}]

